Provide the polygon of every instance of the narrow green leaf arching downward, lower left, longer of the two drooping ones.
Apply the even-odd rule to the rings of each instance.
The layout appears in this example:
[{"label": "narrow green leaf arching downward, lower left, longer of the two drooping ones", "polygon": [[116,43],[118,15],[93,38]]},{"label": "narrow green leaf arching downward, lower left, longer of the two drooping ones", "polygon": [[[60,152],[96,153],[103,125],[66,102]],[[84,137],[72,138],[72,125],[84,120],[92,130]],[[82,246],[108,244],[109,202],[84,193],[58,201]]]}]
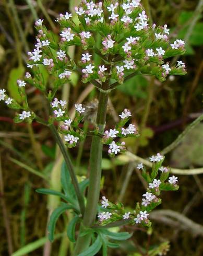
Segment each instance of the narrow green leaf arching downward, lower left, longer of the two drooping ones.
[{"label": "narrow green leaf arching downward, lower left, longer of the two drooping ones", "polygon": [[54,231],[55,231],[55,227],[56,227],[56,222],[57,222],[57,219],[59,218],[59,216],[65,212],[66,210],[69,210],[69,209],[73,209],[73,206],[72,205],[61,205],[59,207],[57,207],[51,217],[50,217],[50,221],[49,221],[49,224],[48,224],[48,231],[49,231],[49,240],[51,242],[53,242],[54,240]]}]

